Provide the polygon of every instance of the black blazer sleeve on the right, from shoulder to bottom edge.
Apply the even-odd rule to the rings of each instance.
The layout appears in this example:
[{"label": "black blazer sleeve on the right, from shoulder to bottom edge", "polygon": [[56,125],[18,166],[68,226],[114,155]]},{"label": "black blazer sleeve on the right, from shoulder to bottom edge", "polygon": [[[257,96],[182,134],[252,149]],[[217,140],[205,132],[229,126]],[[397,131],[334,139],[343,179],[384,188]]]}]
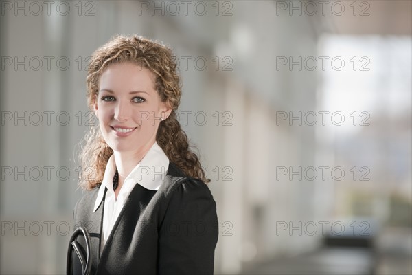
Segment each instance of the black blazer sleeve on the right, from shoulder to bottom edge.
[{"label": "black blazer sleeve on the right, from shoulder to bottom edge", "polygon": [[159,274],[213,274],[217,241],[209,188],[200,180],[183,181],[172,190],[159,230]]}]

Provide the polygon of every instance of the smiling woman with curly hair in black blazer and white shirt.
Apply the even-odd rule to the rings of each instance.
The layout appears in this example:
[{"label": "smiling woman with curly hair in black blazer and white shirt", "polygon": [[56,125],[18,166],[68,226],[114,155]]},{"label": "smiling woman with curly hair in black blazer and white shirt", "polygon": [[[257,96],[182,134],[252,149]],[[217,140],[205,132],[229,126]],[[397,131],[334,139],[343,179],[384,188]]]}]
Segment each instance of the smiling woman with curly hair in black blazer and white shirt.
[{"label": "smiling woman with curly hair in black blazer and white shirt", "polygon": [[170,49],[117,36],[94,52],[87,87],[100,130],[82,150],[74,219],[91,236],[91,274],[213,274],[216,203],[176,120]]}]

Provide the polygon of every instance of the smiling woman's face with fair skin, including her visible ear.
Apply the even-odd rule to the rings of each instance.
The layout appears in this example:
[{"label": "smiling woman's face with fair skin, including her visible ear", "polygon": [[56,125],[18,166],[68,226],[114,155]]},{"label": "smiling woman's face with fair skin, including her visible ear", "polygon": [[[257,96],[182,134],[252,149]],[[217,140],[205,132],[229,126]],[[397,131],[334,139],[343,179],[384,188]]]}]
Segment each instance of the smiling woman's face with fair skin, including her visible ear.
[{"label": "smiling woman's face with fair skin, including her visible ear", "polygon": [[100,76],[94,108],[108,146],[130,153],[150,148],[160,118],[170,113],[155,90],[155,74],[133,63],[108,66]]}]

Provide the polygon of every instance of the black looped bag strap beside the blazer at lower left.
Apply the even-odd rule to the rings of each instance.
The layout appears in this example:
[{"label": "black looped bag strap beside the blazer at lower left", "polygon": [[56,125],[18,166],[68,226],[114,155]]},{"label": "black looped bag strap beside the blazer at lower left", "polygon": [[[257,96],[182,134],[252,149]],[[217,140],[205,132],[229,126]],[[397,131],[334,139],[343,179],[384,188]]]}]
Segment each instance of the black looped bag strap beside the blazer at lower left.
[{"label": "black looped bag strap beside the blazer at lower left", "polygon": [[[86,256],[84,256],[82,249],[80,248],[80,244],[76,241],[76,238],[82,234],[84,236],[84,240],[86,241]],[[82,265],[82,274],[89,275],[91,270],[91,241],[89,232],[87,232],[86,228],[76,228],[73,234],[71,235],[69,241],[69,248],[67,249],[67,266],[66,266],[66,273],[67,275],[71,275],[73,273],[73,263],[72,263],[72,254],[73,250],[76,252],[80,260],[80,264]]]}]

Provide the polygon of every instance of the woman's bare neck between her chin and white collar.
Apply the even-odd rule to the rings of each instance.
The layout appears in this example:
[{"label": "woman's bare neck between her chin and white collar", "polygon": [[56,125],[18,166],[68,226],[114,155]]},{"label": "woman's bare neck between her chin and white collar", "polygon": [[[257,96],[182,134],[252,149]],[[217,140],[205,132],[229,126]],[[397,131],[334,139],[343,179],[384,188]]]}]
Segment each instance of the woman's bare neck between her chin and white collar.
[{"label": "woman's bare neck between her chin and white collar", "polygon": [[124,179],[126,179],[133,168],[135,168],[135,166],[141,162],[141,159],[144,158],[153,144],[155,144],[155,142],[145,144],[134,152],[113,152],[113,155],[115,156],[117,172],[119,173],[119,186],[117,187],[117,190],[120,190],[120,188],[122,188]]}]

